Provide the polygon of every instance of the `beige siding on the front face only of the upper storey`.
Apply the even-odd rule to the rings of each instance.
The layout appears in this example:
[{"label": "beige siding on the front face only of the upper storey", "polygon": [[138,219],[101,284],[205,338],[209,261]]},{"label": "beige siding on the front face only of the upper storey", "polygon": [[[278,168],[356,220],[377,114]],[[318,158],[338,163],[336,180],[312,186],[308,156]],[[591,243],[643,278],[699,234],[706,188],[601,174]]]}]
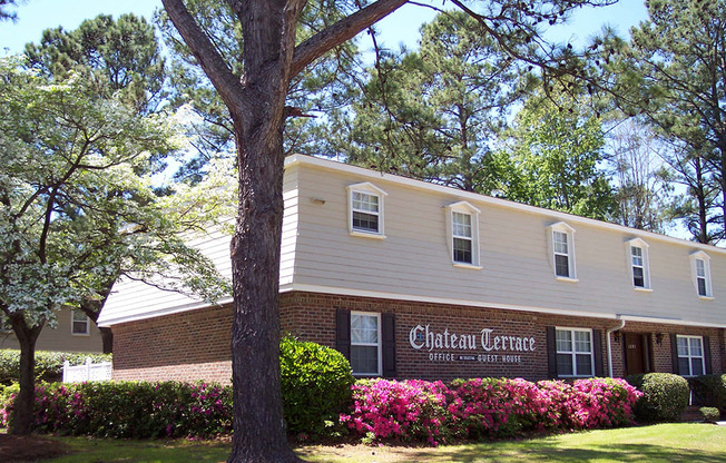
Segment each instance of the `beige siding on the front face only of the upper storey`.
[{"label": "beige siding on the front face only of the upper storey", "polygon": [[[335,166],[333,166],[335,167]],[[356,176],[354,169],[305,166],[297,170],[301,200],[294,283],[418,298],[445,298],[481,305],[587,312],[612,316],[673,318],[726,324],[725,257],[709,253],[714,301],[699,299],[688,256],[697,250],[683,242],[637,235],[544,209],[518,210],[504,201],[477,201],[402,185],[396,177]],[[392,178],[393,180],[389,180]],[[351,236],[345,187],[371,181],[385,190],[385,239]],[[409,180],[410,181],[410,180]],[[305,201],[324,198],[325,204]],[[479,216],[480,270],[452,265],[444,207],[467,200]],[[575,232],[577,283],[555,278],[548,245],[549,225],[565,221]],[[649,247],[653,292],[632,287],[625,243],[640,236]],[[708,250],[706,250],[708,253]]]}]

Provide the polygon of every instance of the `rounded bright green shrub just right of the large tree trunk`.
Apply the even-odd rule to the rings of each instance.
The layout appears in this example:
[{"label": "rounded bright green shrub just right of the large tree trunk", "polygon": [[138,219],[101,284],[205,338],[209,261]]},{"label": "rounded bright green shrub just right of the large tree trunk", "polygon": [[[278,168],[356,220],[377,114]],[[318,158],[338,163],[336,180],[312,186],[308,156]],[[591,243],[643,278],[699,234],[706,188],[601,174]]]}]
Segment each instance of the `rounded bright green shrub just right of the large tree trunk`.
[{"label": "rounded bright green shrub just right of the large tree trunk", "polygon": [[291,433],[322,434],[351,403],[355,381],[340,352],[284,337],[279,343],[285,423]]}]

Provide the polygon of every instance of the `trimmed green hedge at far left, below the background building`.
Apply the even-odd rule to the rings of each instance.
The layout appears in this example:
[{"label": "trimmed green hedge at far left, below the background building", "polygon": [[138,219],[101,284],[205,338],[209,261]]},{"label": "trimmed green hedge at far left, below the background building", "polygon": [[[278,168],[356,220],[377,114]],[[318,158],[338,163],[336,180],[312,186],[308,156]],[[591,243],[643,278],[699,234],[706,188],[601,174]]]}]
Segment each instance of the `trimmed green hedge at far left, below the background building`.
[{"label": "trimmed green hedge at far left, below the background building", "polygon": [[[36,352],[36,381],[52,383],[63,376],[63,362],[82,365],[90,357],[94,363],[111,362],[111,354],[73,352]],[[20,378],[20,351],[0,351],[0,384],[9,385]]]}]

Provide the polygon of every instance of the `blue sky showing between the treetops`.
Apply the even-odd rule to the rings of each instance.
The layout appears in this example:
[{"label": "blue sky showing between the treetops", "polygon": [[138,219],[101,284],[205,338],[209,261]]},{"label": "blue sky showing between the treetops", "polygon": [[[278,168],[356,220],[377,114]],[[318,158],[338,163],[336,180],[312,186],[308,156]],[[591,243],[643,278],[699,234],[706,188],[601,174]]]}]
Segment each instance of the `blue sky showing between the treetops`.
[{"label": "blue sky showing between the treetops", "polygon": [[[441,6],[441,1],[432,4]],[[62,26],[72,30],[84,20],[98,14],[111,14],[115,18],[127,12],[151,17],[155,9],[161,7],[160,0],[29,0],[18,9],[18,21],[0,22],[0,56],[22,52],[27,42],[37,42],[45,29]],[[398,49],[400,43],[415,46],[419,27],[430,20],[433,12],[416,6],[404,6],[380,27],[382,41],[390,48]],[[582,45],[597,33],[604,24],[615,27],[621,35],[646,18],[644,0],[620,0],[618,3],[576,11],[568,24],[550,30],[547,37],[555,41],[570,41]],[[365,47],[363,45],[363,47]]]}]

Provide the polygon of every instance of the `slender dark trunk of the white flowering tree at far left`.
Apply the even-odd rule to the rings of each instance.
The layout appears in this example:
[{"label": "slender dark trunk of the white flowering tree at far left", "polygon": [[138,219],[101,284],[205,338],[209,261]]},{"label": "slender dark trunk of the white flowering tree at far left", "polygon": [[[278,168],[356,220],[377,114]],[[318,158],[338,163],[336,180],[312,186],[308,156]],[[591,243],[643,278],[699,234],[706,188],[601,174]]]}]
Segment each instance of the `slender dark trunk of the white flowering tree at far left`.
[{"label": "slender dark trunk of the white flowering tree at far left", "polygon": [[32,431],[36,404],[36,341],[42,324],[30,328],[22,314],[11,315],[10,321],[20,344],[20,393],[13,404],[14,413],[10,433],[28,435]]}]

